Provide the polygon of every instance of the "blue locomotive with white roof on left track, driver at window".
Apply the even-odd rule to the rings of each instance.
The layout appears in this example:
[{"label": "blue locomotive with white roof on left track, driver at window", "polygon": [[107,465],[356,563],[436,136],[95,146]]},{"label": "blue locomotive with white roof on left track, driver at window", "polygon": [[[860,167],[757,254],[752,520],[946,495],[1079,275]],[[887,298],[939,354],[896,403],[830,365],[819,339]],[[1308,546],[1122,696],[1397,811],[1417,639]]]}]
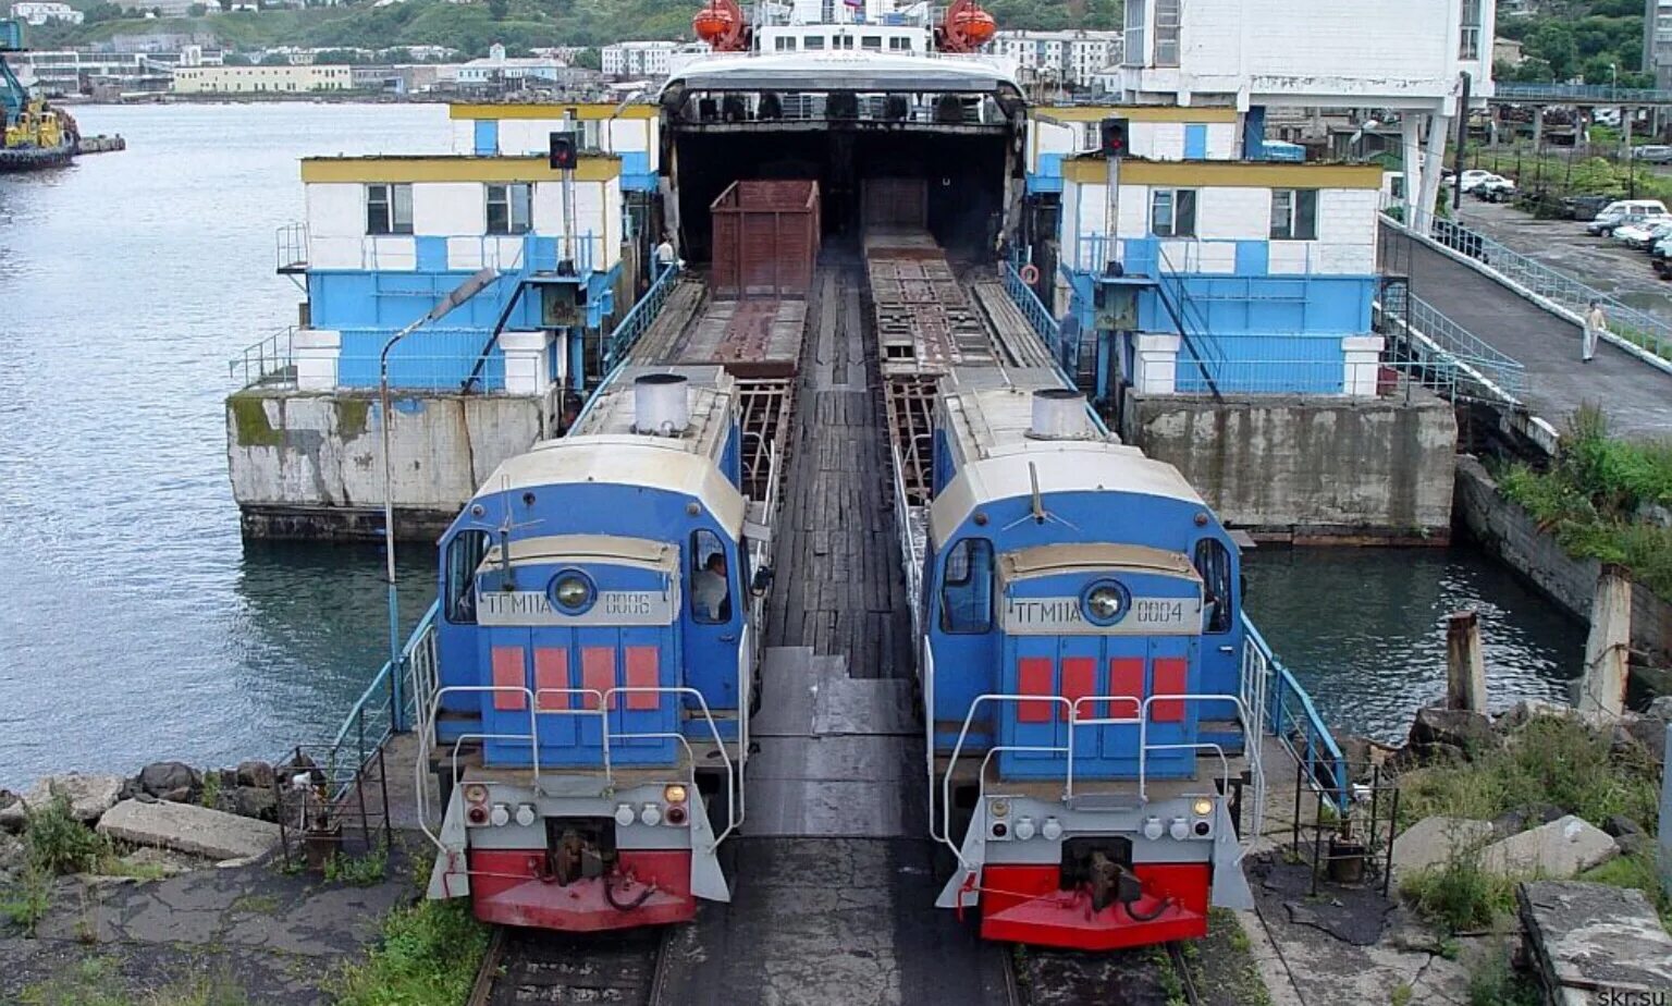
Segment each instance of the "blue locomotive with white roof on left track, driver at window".
[{"label": "blue locomotive with white roof on left track, driver at window", "polygon": [[431,897],[563,931],[729,897],[716,849],[742,815],[766,578],[742,485],[732,378],[640,371],[453,521],[421,724],[445,802]]}]

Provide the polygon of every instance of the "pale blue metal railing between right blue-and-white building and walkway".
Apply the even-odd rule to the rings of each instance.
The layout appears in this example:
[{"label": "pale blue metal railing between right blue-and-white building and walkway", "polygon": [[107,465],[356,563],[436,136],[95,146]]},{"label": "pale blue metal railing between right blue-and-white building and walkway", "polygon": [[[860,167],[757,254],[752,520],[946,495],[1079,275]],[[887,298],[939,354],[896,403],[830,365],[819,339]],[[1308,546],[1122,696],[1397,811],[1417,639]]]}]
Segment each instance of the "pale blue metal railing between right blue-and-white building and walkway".
[{"label": "pale blue metal railing between right blue-and-white building and walkway", "polygon": [[1376,301],[1376,331],[1389,338],[1386,356],[1408,378],[1450,399],[1473,398],[1518,404],[1527,368],[1495,349],[1435,306],[1408,297],[1408,312]]}]

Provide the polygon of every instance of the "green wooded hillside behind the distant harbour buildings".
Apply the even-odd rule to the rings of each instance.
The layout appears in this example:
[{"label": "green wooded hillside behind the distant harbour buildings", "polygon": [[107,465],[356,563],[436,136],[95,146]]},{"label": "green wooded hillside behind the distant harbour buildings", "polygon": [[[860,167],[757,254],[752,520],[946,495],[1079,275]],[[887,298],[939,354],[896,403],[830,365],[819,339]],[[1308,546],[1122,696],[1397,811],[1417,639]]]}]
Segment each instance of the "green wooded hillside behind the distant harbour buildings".
[{"label": "green wooded hillside behind the distant harbour buildings", "polygon": [[[408,0],[373,7],[370,0],[341,7],[237,12],[182,18],[124,15],[112,3],[77,0],[82,25],[47,23],[30,28],[30,45],[59,48],[110,42],[117,37],[194,33],[237,50],[276,45],[314,48],[390,48],[448,45],[466,58],[487,55],[500,42],[512,55],[547,45],[599,47],[624,38],[691,38],[691,17],[701,0],[488,0],[448,3]],[[986,8],[1007,28],[1119,28],[1119,0],[990,0]]]}]

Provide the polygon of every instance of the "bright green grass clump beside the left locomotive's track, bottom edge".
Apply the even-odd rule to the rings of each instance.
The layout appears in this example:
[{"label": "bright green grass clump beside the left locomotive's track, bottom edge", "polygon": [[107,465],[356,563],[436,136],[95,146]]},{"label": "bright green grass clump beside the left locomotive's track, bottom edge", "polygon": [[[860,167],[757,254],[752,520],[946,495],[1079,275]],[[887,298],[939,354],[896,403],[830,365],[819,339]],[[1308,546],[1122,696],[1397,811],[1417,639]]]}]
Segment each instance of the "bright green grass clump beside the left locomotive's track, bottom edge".
[{"label": "bright green grass clump beside the left locomotive's track, bottom edge", "polygon": [[326,983],[336,1006],[456,1006],[470,994],[488,929],[463,901],[420,901],[383,921],[364,959]]}]

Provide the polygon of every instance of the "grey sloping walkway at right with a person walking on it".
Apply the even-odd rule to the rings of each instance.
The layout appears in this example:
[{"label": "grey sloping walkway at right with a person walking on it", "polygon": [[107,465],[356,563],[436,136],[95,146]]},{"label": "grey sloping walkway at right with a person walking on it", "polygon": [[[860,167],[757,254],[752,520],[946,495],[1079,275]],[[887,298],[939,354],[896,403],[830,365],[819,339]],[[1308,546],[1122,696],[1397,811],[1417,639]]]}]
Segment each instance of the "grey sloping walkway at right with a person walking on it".
[{"label": "grey sloping walkway at right with a person walking on it", "polygon": [[1672,374],[1602,344],[1580,363],[1580,328],[1433,246],[1383,224],[1381,269],[1411,277],[1411,294],[1433,304],[1525,369],[1522,399],[1560,429],[1582,403],[1595,403],[1622,436],[1672,436]]}]

